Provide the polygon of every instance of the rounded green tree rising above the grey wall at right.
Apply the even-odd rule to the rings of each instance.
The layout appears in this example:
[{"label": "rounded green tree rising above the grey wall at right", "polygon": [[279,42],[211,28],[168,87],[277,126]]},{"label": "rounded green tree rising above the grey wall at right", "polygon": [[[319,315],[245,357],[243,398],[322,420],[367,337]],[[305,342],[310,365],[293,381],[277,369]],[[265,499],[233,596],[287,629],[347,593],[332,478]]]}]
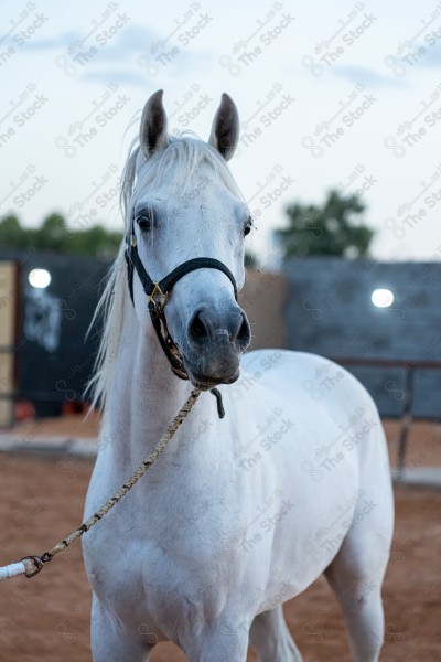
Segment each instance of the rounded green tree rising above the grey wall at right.
[{"label": "rounded green tree rising above the grey wall at right", "polygon": [[330,191],[322,206],[290,204],[286,210],[289,226],[277,231],[283,256],[367,255],[374,231],[354,220],[364,210],[358,195],[344,197],[337,191]]}]

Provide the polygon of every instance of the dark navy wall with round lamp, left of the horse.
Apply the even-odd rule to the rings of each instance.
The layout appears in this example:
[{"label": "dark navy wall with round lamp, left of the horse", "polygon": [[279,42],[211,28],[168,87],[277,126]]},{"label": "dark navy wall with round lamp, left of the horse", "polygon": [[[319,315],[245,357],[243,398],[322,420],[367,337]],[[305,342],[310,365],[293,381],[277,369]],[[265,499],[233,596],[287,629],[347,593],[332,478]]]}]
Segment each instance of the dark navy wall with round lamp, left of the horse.
[{"label": "dark navy wall with round lamp, left of the horse", "polygon": [[[97,348],[96,333],[86,339],[86,332],[108,263],[7,249],[0,259],[14,260],[20,273],[18,396],[32,401],[39,415],[55,415],[63,402],[83,401]],[[44,290],[29,285],[34,268],[52,276]]]}]

